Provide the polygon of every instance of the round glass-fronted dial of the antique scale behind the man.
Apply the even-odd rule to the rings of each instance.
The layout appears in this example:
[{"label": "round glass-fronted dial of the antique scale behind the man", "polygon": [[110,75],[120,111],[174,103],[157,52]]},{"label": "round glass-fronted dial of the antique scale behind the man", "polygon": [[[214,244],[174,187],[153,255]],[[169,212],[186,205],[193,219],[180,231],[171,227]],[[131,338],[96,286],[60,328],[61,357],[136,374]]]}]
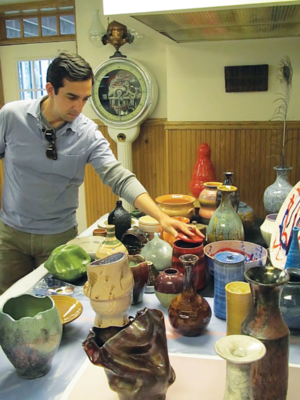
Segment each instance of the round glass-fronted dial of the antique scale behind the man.
[{"label": "round glass-fronted dial of the antique scale behind the man", "polygon": [[108,126],[138,124],[152,103],[151,79],[136,61],[116,57],[94,71],[91,106]]}]

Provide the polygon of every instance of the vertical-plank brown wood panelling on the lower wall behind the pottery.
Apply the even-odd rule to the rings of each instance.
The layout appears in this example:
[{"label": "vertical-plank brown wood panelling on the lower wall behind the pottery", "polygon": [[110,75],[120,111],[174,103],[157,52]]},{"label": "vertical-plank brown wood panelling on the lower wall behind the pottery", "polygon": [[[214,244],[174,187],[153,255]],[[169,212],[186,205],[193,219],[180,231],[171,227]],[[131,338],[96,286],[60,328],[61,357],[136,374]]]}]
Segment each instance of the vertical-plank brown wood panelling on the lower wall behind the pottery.
[{"label": "vertical-plank brown wood panelling on the lower wall behind the pottery", "polygon": [[[106,127],[97,121],[108,138]],[[233,183],[240,198],[264,217],[263,191],[275,180],[273,166],[279,164],[282,123],[274,121],[238,122],[167,122],[148,119],[132,144],[133,172],[155,199],[166,193],[189,193],[189,180],[196,162],[197,147],[206,142],[216,177],[223,180],[223,171],[234,172]],[[287,130],[286,163],[292,166],[291,184],[300,180],[300,121],[290,121]],[[109,139],[111,142],[111,139]],[[112,144],[114,153],[116,145]],[[115,206],[109,193],[92,168],[85,179],[87,224]],[[99,186],[99,187],[98,187]]]}]

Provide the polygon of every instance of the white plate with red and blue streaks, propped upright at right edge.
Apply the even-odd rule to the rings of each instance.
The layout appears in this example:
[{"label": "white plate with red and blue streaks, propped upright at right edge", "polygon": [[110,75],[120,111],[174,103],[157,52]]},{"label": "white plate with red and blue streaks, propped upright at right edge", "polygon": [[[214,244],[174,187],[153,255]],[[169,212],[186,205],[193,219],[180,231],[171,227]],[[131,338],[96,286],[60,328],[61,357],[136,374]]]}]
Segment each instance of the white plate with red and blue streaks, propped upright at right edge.
[{"label": "white plate with red and blue streaks, propped upright at right edge", "polygon": [[300,226],[300,181],[286,196],[275,220],[269,249],[273,266],[284,268],[293,226]]}]

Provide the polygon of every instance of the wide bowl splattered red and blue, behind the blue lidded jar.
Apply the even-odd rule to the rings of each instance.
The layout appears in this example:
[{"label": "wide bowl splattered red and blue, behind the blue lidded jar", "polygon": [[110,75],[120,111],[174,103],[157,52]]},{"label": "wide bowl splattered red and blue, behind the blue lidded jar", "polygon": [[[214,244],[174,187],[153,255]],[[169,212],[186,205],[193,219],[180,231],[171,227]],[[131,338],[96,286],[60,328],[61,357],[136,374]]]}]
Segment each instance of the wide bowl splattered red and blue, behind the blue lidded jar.
[{"label": "wide bowl splattered red and blue, behind the blue lidded jar", "polygon": [[220,251],[234,251],[245,256],[245,269],[256,265],[265,265],[267,250],[256,243],[243,240],[220,240],[204,247],[206,267],[213,274],[213,256]]}]

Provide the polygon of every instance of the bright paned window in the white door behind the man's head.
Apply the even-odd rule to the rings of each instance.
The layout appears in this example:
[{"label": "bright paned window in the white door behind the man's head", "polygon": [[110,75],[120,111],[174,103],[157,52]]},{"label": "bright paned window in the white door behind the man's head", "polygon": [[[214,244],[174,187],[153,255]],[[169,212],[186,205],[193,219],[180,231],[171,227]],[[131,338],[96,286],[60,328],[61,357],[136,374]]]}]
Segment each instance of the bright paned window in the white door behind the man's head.
[{"label": "bright paned window in the white door behind the man's head", "polygon": [[27,100],[46,94],[46,74],[52,59],[18,61],[19,98]]}]

